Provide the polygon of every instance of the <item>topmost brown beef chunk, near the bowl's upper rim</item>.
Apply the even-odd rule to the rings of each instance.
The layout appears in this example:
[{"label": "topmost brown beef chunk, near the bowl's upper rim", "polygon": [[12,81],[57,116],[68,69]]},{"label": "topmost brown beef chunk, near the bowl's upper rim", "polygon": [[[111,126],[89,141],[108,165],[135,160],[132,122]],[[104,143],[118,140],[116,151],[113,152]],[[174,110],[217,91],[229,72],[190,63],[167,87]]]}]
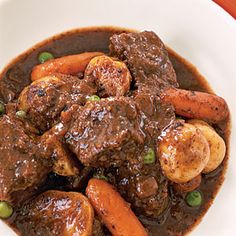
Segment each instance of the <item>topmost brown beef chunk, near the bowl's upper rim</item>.
[{"label": "topmost brown beef chunk, near the bowl's upper rim", "polygon": [[149,81],[149,86],[160,93],[178,85],[165,45],[154,32],[115,34],[109,48],[112,56],[128,65],[138,87]]}]

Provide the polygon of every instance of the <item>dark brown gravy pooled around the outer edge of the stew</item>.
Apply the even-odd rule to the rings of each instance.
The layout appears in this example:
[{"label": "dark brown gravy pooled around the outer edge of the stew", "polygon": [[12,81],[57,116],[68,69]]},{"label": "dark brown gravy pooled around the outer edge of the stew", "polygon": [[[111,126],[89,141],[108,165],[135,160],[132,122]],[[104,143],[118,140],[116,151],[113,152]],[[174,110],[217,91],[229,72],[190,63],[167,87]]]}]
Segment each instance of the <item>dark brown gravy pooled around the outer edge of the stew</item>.
[{"label": "dark brown gravy pooled around the outer edge of the stew", "polygon": [[[16,58],[0,75],[0,101],[7,103],[17,99],[21,90],[30,84],[30,73],[32,68],[38,64],[40,52],[49,51],[55,57],[86,51],[108,53],[109,37],[115,33],[128,31],[111,27],[85,28],[62,33],[36,45]],[[168,51],[180,88],[212,93],[209,85],[195,67],[177,55],[173,50],[168,49]],[[215,128],[228,144],[230,122],[218,124]],[[204,203],[199,208],[189,207],[184,201],[184,194],[176,195],[170,189],[172,200],[158,220],[139,216],[150,235],[183,235],[199,222],[211,205],[214,196],[223,182],[228,151],[227,149],[223,163],[214,172],[202,176],[202,182],[198,189],[203,193]]]}]

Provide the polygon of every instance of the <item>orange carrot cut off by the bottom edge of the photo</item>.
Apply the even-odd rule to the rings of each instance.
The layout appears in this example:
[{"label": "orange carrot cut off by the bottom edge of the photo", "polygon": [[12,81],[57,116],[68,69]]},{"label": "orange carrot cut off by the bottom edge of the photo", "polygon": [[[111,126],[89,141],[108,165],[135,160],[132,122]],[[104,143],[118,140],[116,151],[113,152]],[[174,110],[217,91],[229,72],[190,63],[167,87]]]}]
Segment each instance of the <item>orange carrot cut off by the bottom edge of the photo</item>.
[{"label": "orange carrot cut off by the bottom edge of the photo", "polygon": [[114,236],[146,236],[129,204],[104,180],[90,179],[86,194],[107,228]]}]

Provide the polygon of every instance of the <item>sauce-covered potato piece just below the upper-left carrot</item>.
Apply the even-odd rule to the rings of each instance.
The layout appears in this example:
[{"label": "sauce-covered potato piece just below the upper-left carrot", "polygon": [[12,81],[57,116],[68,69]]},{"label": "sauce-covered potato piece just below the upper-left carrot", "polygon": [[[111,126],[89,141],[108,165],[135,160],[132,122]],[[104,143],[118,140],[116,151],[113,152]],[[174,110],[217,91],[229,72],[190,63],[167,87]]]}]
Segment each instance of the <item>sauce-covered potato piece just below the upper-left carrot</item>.
[{"label": "sauce-covered potato piece just below the upper-left carrot", "polygon": [[71,104],[83,105],[88,95],[96,93],[77,77],[57,74],[31,83],[20,94],[18,108],[27,113],[27,119],[41,131],[59,122],[61,112]]}]

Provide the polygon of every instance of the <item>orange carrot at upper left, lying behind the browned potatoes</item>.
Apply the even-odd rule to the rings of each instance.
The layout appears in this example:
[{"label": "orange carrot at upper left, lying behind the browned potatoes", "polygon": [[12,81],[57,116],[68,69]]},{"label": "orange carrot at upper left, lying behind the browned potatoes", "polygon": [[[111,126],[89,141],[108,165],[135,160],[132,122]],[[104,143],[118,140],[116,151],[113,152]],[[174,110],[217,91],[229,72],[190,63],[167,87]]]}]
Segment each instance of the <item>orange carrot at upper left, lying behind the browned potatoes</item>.
[{"label": "orange carrot at upper left, lying behind the browned potatoes", "polygon": [[101,55],[103,55],[103,53],[101,52],[85,52],[81,54],[51,59],[33,68],[31,73],[31,80],[35,81],[41,79],[42,77],[55,73],[76,75],[79,72],[83,72],[85,70],[86,66],[92,58]]}]

